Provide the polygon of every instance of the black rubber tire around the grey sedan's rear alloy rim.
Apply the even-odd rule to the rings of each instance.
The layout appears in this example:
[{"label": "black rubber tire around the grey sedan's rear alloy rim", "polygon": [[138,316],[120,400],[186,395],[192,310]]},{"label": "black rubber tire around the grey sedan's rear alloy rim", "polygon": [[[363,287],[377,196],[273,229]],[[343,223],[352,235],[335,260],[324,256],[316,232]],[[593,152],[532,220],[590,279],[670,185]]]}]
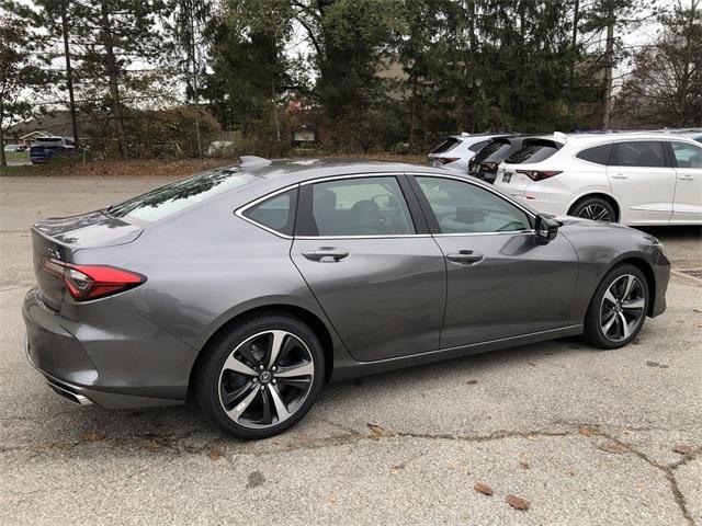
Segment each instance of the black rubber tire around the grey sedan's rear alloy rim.
[{"label": "black rubber tire around the grey sedan's rear alloy rim", "polygon": [[[227,362],[227,359],[231,359],[231,357],[235,356],[235,353],[239,353],[239,350],[244,348],[246,350],[247,355],[245,356],[241,354],[236,354],[238,356],[237,359],[240,359],[242,363],[246,363],[247,366],[250,365],[251,368],[258,371],[259,370],[258,366],[254,366],[253,361],[249,361],[248,357],[249,356],[251,356],[252,358],[254,357],[253,353],[259,351],[257,347],[258,341],[256,339],[268,338],[267,331],[278,331],[279,333],[285,332],[285,333],[288,333],[288,335],[284,336],[285,339],[290,339],[290,340],[297,339],[299,342],[302,342],[304,345],[302,346],[298,345],[299,348],[293,348],[293,351],[291,352],[305,353],[306,356],[308,355],[310,362],[309,359],[305,359],[301,363],[307,364],[305,365],[305,367],[307,368],[310,367],[310,363],[312,363],[312,366],[314,366],[314,375],[312,376],[312,379],[309,381],[309,387],[308,387],[308,390],[306,391],[305,397],[302,398],[302,395],[299,396],[301,400],[297,401],[298,404],[295,407],[294,411],[291,410],[291,412],[288,413],[290,416],[285,416],[285,420],[283,420],[282,422],[271,421],[270,424],[260,424],[263,426],[252,428],[251,425],[259,425],[259,424],[253,424],[250,422],[246,422],[244,420],[241,420],[244,424],[235,422],[235,420],[233,420],[233,418],[230,418],[227,411],[225,410],[225,407],[224,407],[225,401],[222,397],[223,396],[227,397],[233,395],[233,393],[225,393],[225,391],[223,390],[225,389],[224,384],[228,379],[228,378],[225,378],[225,375],[234,375],[234,379],[237,381],[245,380],[246,385],[240,384],[239,387],[235,386],[231,388],[234,391],[237,391],[237,392],[239,390],[241,390],[241,392],[245,392],[242,391],[242,389],[245,389],[249,385],[253,386],[253,382],[257,382],[258,387],[254,387],[246,391],[246,398],[249,398],[249,393],[250,393],[250,396],[254,398],[252,399],[252,402],[249,402],[249,403],[251,403],[252,405],[256,405],[253,403],[256,402],[261,408],[263,408],[263,405],[268,405],[268,416],[271,418],[271,413],[275,412],[274,418],[278,418],[279,420],[280,420],[280,414],[278,411],[278,403],[276,403],[276,400],[274,399],[278,398],[279,400],[281,399],[284,400],[284,397],[283,397],[284,392],[290,392],[290,391],[294,392],[294,389],[299,389],[299,387],[293,388],[290,385],[286,386],[285,384],[295,382],[295,381],[299,382],[301,380],[294,380],[291,378],[281,377],[279,379],[271,379],[264,385],[262,377],[247,376],[245,374],[239,374],[235,370],[229,370],[224,367],[225,362]],[[253,342],[253,343],[249,343],[249,342]],[[246,347],[246,345],[249,345],[249,347]],[[271,346],[273,345],[274,344],[271,344]],[[261,346],[264,346],[264,345],[261,345]],[[270,353],[270,350],[267,352]],[[285,351],[281,351],[280,356],[283,356],[284,352]],[[291,352],[288,352],[288,354]],[[207,354],[204,357],[203,363],[200,365],[194,378],[195,386],[194,386],[193,392],[195,396],[195,401],[200,407],[200,409],[210,418],[210,420],[212,420],[212,422],[215,425],[217,425],[223,432],[236,438],[241,438],[241,439],[268,438],[270,436],[278,435],[291,428],[293,425],[299,422],[303,419],[303,416],[305,416],[305,414],[309,411],[315,400],[317,399],[319,392],[321,391],[321,387],[324,385],[325,353],[321,347],[321,344],[319,343],[319,339],[305,323],[303,323],[297,318],[288,316],[286,313],[270,313],[270,315],[267,313],[267,315],[257,315],[257,316],[249,317],[242,320],[240,323],[237,323],[236,325],[234,325],[230,330],[218,335],[215,341],[211,342],[211,344],[208,345],[208,348],[206,350],[206,353]],[[262,365],[267,361],[268,358],[264,356],[260,358],[260,364]],[[281,366],[279,373],[276,374],[282,375],[283,369],[292,370],[292,369],[295,369],[295,367]],[[271,370],[274,370],[274,369],[271,369]],[[261,374],[262,373],[263,371],[261,371]],[[280,381],[280,384],[278,384],[276,386],[273,386],[273,384],[276,384],[276,381]],[[253,391],[257,391],[259,388],[263,392],[254,395]],[[278,393],[278,396],[273,397],[273,393],[270,390],[267,390],[265,388],[270,390],[275,389],[275,392]],[[262,400],[263,393],[265,393],[269,399],[268,403],[264,403],[264,401]],[[259,400],[259,397],[261,397],[260,400]],[[238,401],[239,399],[233,399],[233,400]],[[271,405],[271,403],[273,403],[273,405]],[[292,403],[287,407],[283,405],[284,408],[283,412],[285,412],[285,410],[287,410],[292,405],[293,405]],[[238,407],[239,407],[238,404],[235,404],[234,409],[236,410]],[[263,413],[263,411],[264,410],[261,409],[261,412],[264,415],[265,413]],[[244,414],[241,414],[240,416],[244,416]],[[264,422],[264,416],[262,416],[261,422]]]}]

